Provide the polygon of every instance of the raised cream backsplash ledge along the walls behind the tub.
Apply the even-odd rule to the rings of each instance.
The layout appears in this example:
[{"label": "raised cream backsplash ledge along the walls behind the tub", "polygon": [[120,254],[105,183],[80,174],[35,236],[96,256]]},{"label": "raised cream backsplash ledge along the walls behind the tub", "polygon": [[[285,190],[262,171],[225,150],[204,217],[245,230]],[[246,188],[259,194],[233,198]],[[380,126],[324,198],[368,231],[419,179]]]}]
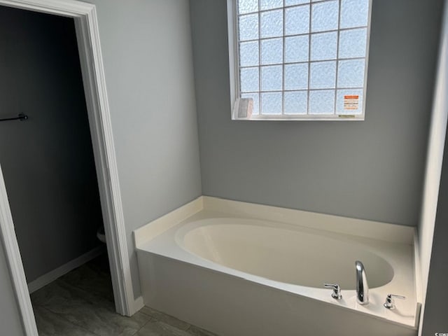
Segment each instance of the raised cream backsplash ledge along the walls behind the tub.
[{"label": "raised cream backsplash ledge along the walls behind the tub", "polygon": [[157,237],[162,232],[203,210],[235,218],[258,218],[265,221],[288,223],[300,228],[345,233],[392,243],[414,244],[415,229],[409,226],[200,196],[169,214],[134,230],[135,246]]}]

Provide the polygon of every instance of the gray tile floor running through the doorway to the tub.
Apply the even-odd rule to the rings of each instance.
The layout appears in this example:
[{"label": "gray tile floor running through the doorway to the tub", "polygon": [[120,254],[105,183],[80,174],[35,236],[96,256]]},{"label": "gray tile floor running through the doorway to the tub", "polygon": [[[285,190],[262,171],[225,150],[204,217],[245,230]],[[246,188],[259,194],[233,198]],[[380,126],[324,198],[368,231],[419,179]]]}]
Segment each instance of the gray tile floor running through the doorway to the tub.
[{"label": "gray tile floor running through the doorway to the tub", "polygon": [[149,307],[116,314],[106,255],[32,293],[31,302],[40,336],[214,336]]}]

